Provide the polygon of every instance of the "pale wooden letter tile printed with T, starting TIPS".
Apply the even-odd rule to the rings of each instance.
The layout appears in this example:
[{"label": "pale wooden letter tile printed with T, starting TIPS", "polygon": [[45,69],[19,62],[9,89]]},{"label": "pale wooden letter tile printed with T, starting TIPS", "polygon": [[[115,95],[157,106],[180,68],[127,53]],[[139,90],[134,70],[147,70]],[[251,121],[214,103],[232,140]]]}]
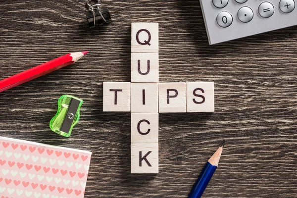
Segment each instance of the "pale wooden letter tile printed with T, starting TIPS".
[{"label": "pale wooden letter tile printed with T, starting TIPS", "polygon": [[130,111],[130,82],[103,82],[103,111]]}]

